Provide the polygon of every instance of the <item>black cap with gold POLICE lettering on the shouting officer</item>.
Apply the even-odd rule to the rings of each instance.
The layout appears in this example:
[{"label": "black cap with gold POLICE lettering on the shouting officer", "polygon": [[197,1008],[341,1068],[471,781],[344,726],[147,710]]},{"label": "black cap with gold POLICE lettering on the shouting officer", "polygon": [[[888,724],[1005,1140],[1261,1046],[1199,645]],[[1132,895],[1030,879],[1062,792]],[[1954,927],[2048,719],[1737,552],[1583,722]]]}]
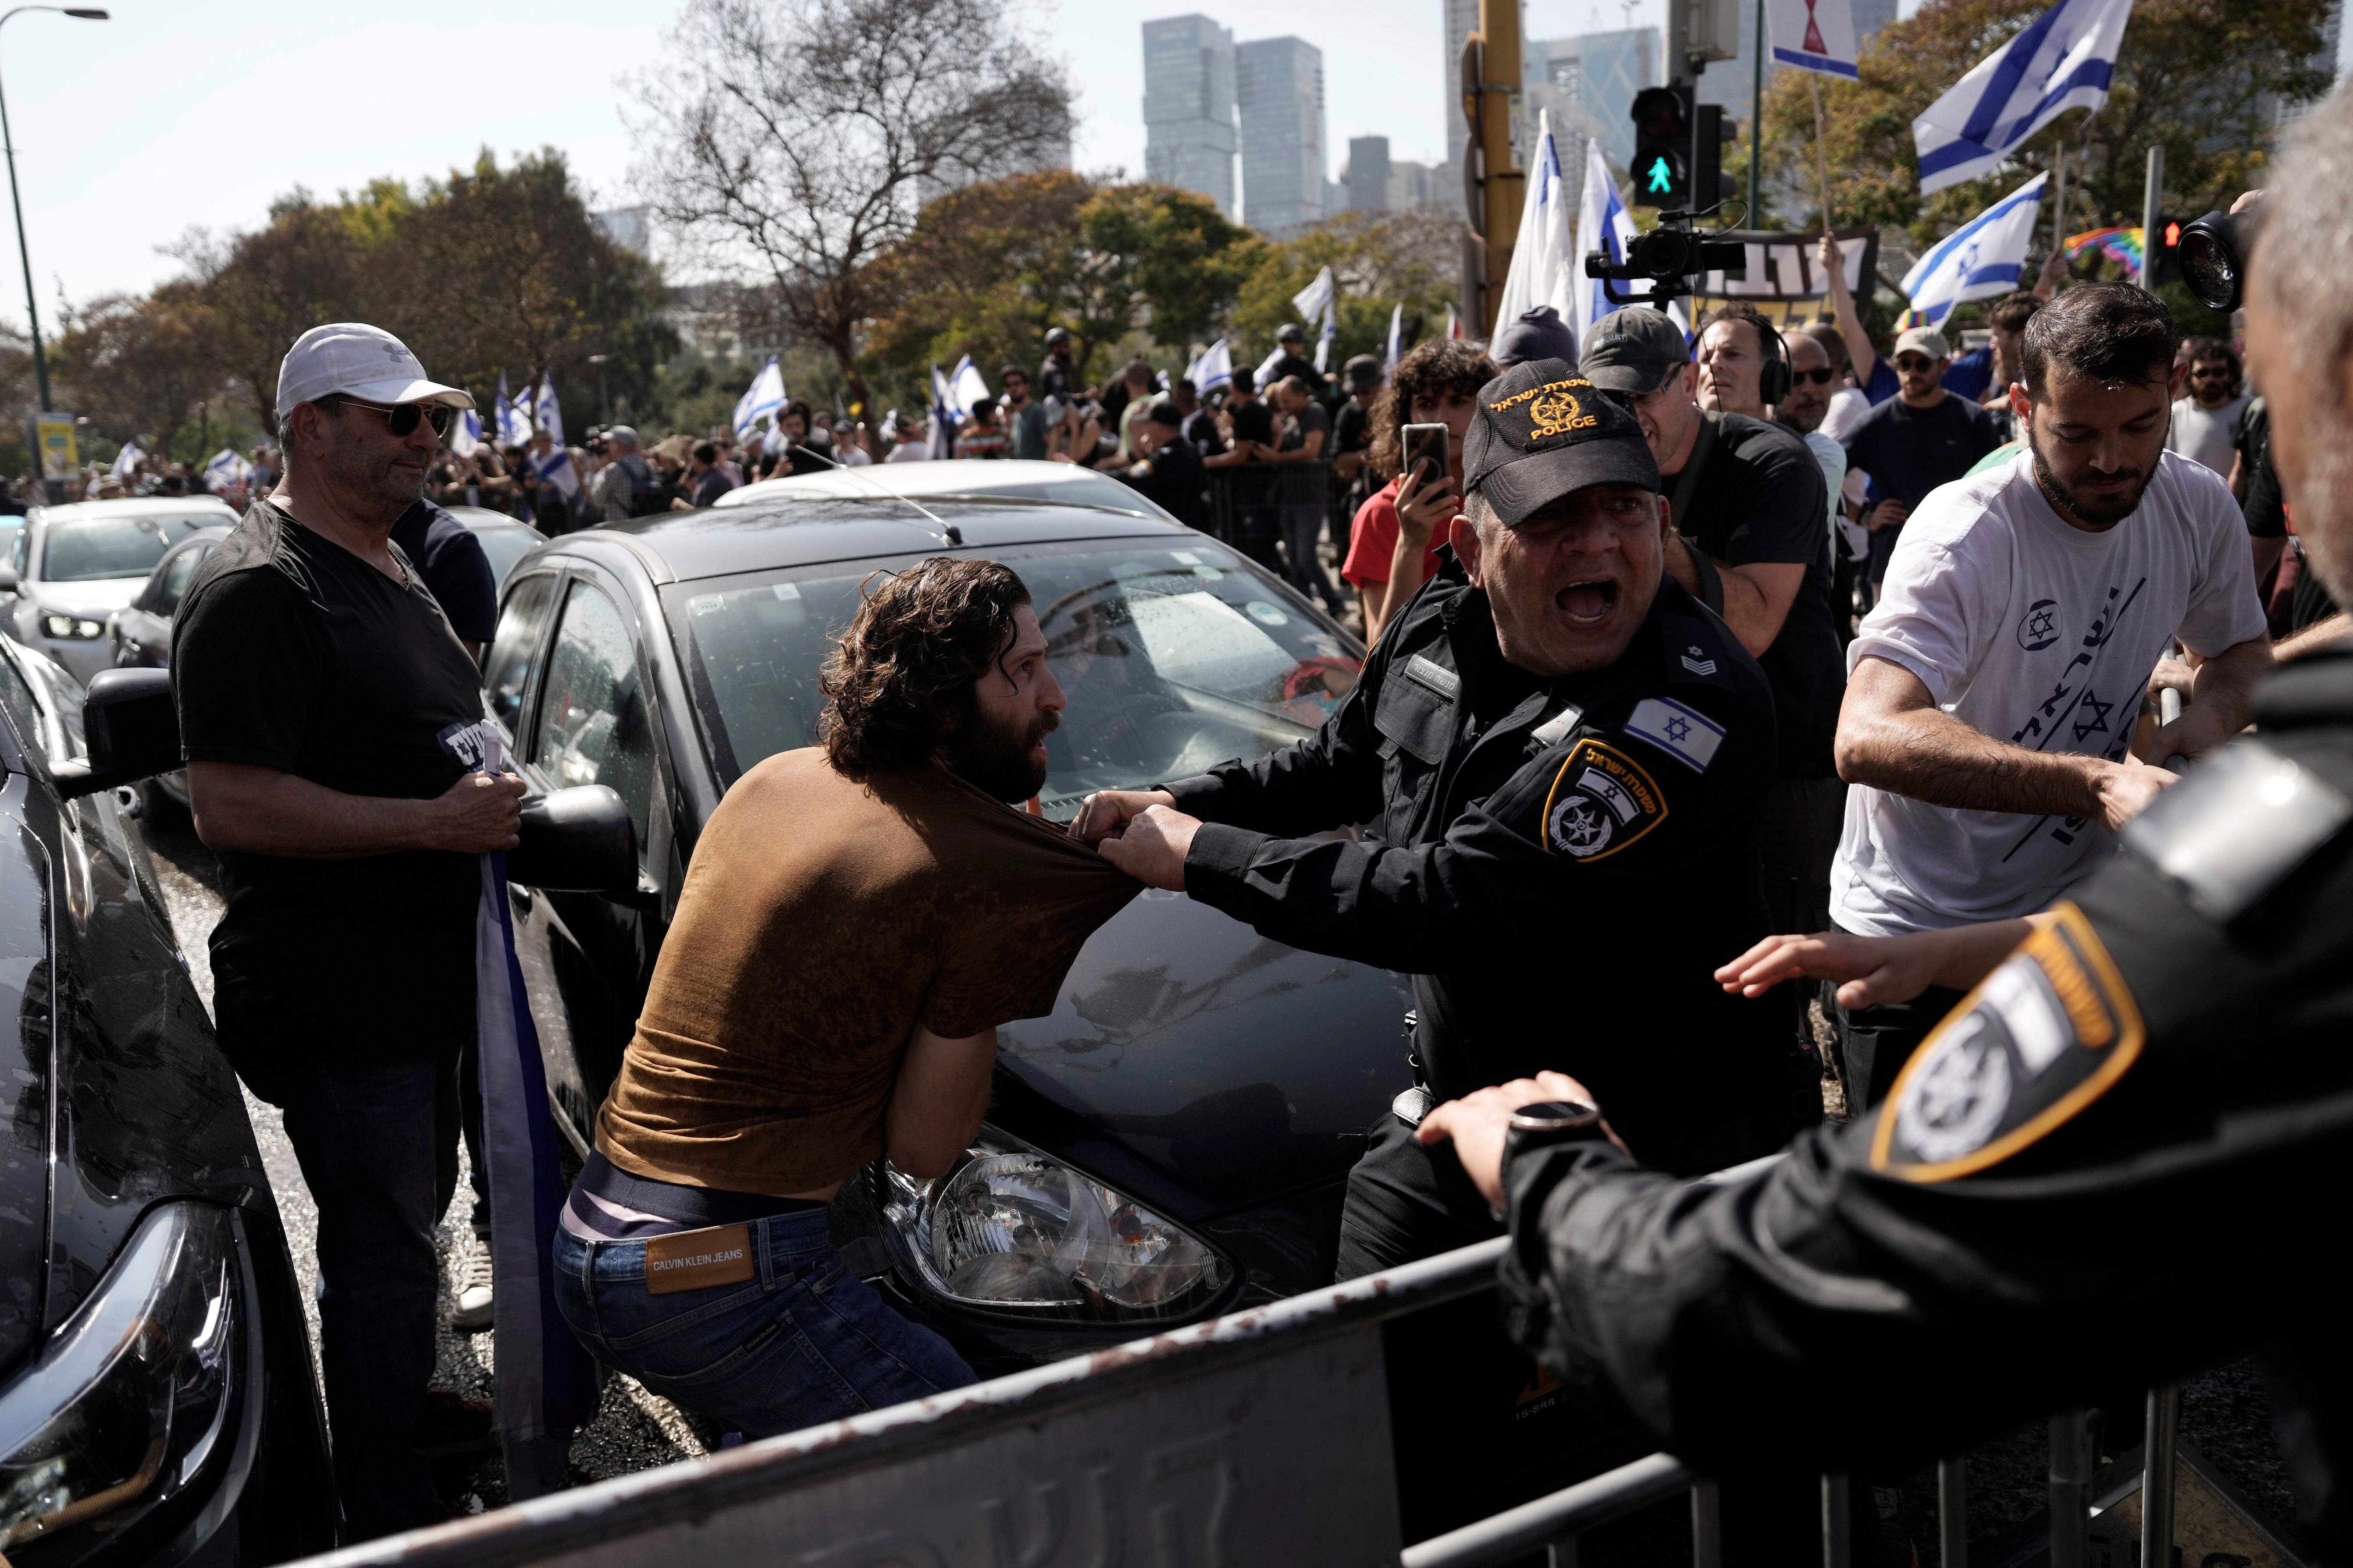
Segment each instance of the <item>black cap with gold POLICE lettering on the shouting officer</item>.
[{"label": "black cap with gold POLICE lettering on the shouting officer", "polygon": [[1588,484],[1659,489],[1659,461],[1633,414],[1562,360],[1513,364],[1478,390],[1464,489],[1504,527]]}]

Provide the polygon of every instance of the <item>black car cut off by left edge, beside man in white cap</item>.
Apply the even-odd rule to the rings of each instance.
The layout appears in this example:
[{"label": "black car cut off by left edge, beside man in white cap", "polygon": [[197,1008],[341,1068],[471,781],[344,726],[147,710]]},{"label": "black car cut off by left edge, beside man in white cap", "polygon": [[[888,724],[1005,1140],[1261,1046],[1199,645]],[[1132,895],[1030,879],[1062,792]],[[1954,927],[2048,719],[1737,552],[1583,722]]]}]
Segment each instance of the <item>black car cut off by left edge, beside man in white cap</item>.
[{"label": "black car cut off by left edge, beside man in white cap", "polygon": [[[146,724],[151,764],[176,757],[162,684],[104,679],[146,686],[146,710],[115,710],[108,733]],[[294,1265],[155,870],[118,780],[92,771],[82,703],[56,663],[0,642],[0,1016],[16,1037],[0,1556],[325,1552],[334,1483]]]}]

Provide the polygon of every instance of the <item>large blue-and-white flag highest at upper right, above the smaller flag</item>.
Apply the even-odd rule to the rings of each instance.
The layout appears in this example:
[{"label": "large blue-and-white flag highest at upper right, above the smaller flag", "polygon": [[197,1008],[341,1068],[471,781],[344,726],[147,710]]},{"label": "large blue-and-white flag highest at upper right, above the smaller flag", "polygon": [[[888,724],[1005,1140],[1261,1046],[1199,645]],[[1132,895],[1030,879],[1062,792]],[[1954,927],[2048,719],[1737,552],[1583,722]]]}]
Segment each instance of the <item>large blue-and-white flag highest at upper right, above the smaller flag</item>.
[{"label": "large blue-and-white flag highest at upper right, above the smaller flag", "polygon": [[1913,120],[1920,195],[1993,172],[2068,108],[2108,101],[2132,0],[2059,0]]}]

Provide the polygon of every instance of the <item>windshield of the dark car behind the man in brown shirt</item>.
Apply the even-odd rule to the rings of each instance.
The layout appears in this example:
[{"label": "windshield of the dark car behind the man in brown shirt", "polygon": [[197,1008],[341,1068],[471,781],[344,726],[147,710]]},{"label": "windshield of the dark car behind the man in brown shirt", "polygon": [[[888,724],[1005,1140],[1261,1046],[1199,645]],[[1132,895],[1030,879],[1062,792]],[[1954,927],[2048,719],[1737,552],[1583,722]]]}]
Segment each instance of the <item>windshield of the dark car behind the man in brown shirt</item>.
[{"label": "windshield of the dark car behind the man in brown shirt", "polygon": [[[1038,795],[1056,820],[1089,790],[1146,788],[1315,733],[1362,665],[1341,632],[1209,541],[1035,545],[998,559],[1028,585],[1068,701]],[[819,567],[668,590],[722,783],[816,743],[816,670],[866,576]]]}]

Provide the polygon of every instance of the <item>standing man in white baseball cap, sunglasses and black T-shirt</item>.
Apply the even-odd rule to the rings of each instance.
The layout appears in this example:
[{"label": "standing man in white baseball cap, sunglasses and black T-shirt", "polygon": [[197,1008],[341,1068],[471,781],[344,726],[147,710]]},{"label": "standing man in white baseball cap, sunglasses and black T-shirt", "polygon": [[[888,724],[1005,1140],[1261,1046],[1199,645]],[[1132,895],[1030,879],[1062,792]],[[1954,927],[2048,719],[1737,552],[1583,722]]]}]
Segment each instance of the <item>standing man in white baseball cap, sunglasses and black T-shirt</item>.
[{"label": "standing man in white baseball cap, sunglasses and black T-shirt", "polygon": [[473,1041],[478,856],[522,780],[482,773],[480,670],[393,527],[456,409],[400,339],[313,327],[278,374],[285,477],[181,599],[172,691],[221,860],[221,1048],[285,1110],[318,1199],[320,1359],[351,1540],[445,1516],[419,1448],[487,1436],[428,1399],[433,1225]]}]

